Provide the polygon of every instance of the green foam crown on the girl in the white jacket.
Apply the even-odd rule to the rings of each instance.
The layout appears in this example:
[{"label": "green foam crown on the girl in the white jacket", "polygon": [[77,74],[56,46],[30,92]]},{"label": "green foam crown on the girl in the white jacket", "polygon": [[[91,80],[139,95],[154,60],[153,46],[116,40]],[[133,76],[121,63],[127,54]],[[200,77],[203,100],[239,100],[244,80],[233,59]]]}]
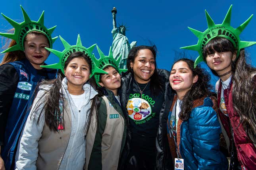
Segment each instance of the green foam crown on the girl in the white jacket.
[{"label": "green foam crown on the girl in the white jacket", "polygon": [[50,48],[46,48],[48,51],[54,53],[57,57],[59,57],[60,61],[58,63],[52,64],[52,65],[41,65],[40,67],[49,68],[49,69],[61,69],[62,73],[64,74],[65,61],[67,60],[67,58],[69,57],[69,55],[71,53],[79,51],[79,52],[83,52],[84,54],[87,54],[89,56],[90,60],[92,61],[92,71],[90,74],[90,78],[93,76],[94,73],[107,74],[106,71],[103,71],[102,69],[98,68],[95,65],[95,61],[97,59],[92,54],[92,51],[93,51],[94,47],[96,46],[96,44],[90,46],[89,48],[85,48],[82,45],[81,38],[80,38],[79,34],[77,36],[77,44],[73,45],[73,46],[68,44],[61,36],[60,36],[60,40],[62,41],[62,44],[64,45],[64,48],[65,48],[62,52],[59,52],[57,50],[53,50]]}]

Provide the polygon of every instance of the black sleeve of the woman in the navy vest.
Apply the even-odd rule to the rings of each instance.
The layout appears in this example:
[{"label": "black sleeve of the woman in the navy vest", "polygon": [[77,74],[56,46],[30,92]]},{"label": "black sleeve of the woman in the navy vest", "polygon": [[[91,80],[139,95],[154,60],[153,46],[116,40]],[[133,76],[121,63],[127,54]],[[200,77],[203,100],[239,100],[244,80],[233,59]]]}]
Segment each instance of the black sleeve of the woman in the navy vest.
[{"label": "black sleeve of the woman in the navy vest", "polygon": [[4,130],[18,82],[19,74],[12,65],[0,66],[0,145],[4,144]]}]

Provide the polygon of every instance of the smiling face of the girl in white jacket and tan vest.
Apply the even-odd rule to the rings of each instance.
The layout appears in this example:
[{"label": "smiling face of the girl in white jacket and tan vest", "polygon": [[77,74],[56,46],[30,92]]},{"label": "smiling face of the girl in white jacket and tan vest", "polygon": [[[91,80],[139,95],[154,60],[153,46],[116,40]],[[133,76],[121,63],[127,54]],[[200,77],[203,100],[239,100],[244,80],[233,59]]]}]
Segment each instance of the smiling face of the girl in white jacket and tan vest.
[{"label": "smiling face of the girl in white jacket and tan vest", "polygon": [[72,59],[64,70],[67,86],[82,88],[90,77],[90,66],[82,57]]}]

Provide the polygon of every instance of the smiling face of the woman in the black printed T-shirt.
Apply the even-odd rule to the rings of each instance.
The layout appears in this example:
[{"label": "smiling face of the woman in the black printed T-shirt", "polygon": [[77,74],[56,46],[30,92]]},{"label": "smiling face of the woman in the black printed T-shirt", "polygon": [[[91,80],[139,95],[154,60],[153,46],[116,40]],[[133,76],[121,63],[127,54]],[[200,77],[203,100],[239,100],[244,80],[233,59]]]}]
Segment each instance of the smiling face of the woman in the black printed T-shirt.
[{"label": "smiling face of the woman in the black printed T-shirt", "polygon": [[149,82],[156,69],[153,53],[148,49],[139,50],[134,62],[131,61],[130,67],[133,69],[134,78],[138,83]]}]

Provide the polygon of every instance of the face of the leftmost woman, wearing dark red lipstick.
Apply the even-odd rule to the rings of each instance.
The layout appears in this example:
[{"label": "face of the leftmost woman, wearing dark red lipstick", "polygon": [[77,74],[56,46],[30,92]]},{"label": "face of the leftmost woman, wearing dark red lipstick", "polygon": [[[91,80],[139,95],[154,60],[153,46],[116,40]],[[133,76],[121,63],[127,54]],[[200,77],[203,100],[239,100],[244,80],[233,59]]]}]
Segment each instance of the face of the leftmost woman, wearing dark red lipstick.
[{"label": "face of the leftmost woman, wearing dark red lipstick", "polygon": [[40,65],[43,65],[49,55],[45,47],[49,47],[46,36],[43,34],[27,34],[24,41],[24,53],[35,69],[42,69]]}]

